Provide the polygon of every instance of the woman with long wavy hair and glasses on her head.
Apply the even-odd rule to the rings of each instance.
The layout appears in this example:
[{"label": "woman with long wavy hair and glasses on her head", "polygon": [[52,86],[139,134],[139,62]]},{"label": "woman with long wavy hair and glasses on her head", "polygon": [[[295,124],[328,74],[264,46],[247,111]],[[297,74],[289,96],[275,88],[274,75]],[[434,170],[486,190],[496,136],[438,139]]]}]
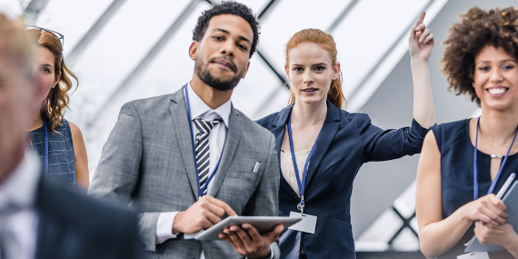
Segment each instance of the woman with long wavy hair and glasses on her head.
[{"label": "woman with long wavy hair and glasses on her head", "polygon": [[42,172],[57,184],[88,188],[85,142],[79,128],[65,120],[68,90],[75,75],[63,60],[63,35],[39,27],[27,27],[36,47],[36,74],[48,89],[41,96],[41,111],[29,129],[30,145],[40,155]]}]

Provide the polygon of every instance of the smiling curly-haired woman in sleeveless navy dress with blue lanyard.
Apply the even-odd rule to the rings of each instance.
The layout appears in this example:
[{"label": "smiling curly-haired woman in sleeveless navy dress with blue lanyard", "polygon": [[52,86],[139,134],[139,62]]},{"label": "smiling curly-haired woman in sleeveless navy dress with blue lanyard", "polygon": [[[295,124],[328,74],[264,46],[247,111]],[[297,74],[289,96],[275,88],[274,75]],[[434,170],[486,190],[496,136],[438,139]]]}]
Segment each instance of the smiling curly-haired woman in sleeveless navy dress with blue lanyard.
[{"label": "smiling curly-haired woman in sleeveless navy dress with blue lanyard", "polygon": [[435,125],[424,139],[416,194],[421,251],[456,258],[476,234],[507,250],[491,258],[518,258],[518,234],[494,195],[518,173],[518,10],[473,7],[461,18],[444,42],[443,73],[482,115]]}]

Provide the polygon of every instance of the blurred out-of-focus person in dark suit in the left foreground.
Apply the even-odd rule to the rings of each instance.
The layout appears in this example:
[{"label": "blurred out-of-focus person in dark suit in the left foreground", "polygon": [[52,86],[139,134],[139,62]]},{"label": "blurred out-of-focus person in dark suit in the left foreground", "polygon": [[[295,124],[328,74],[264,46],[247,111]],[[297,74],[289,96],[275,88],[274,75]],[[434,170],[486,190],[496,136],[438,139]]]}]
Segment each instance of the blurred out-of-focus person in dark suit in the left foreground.
[{"label": "blurred out-of-focus person in dark suit in the left foreground", "polygon": [[50,183],[25,129],[46,85],[35,45],[0,14],[0,258],[143,258],[136,215]]}]

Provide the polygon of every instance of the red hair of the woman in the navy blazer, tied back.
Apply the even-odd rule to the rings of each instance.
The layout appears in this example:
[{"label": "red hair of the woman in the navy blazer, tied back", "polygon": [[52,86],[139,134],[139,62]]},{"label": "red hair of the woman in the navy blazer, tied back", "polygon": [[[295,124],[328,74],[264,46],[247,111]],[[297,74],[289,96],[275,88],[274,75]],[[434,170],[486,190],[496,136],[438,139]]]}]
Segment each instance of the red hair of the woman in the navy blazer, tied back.
[{"label": "red hair of the woman in the navy blazer, tied back", "polygon": [[[333,36],[330,34],[326,34],[319,29],[304,29],[292,36],[292,38],[288,41],[286,45],[286,65],[289,65],[290,60],[290,50],[295,46],[302,43],[314,43],[317,45],[321,45],[325,50],[329,52],[331,55],[331,59],[333,60],[333,66],[336,65],[336,43],[334,43]],[[345,101],[344,93],[342,92],[342,72],[338,78],[333,79],[331,81],[331,85],[329,87],[329,92],[327,93],[327,99],[331,101],[331,103],[339,109],[342,109],[347,106],[347,101]],[[291,91],[290,98],[288,99],[288,105],[291,105],[295,102],[294,91]]]}]

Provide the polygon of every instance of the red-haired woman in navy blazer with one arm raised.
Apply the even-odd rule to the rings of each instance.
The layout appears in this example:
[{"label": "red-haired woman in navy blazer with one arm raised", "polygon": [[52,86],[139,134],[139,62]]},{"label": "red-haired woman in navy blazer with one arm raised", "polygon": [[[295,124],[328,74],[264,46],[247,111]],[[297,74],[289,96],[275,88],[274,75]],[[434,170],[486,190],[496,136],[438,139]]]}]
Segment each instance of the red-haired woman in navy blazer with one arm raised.
[{"label": "red-haired woman in navy blazer with one arm raised", "polygon": [[333,36],[305,29],[286,45],[291,105],[258,121],[276,137],[283,174],[279,214],[305,216],[281,234],[283,258],[354,258],[349,209],[360,166],[421,152],[427,128],[435,123],[427,66],[434,41],[423,18],[424,13],[409,39],[415,120],[397,130],[382,130],[368,115],[342,109]]}]

